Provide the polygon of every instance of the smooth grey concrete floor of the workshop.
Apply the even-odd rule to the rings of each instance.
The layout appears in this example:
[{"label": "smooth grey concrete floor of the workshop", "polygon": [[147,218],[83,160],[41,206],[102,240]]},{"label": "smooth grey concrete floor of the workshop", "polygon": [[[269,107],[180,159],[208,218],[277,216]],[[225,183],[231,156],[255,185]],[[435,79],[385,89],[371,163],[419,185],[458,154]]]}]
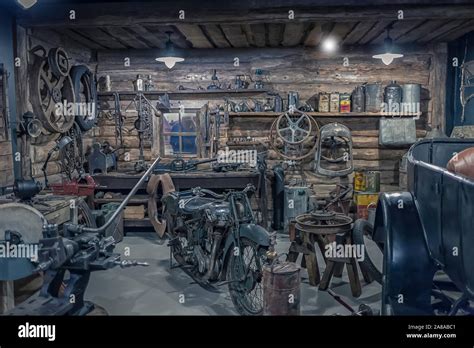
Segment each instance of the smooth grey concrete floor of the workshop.
[{"label": "smooth grey concrete floor of the workshop", "polygon": [[[279,253],[288,252],[289,245],[287,236],[278,236]],[[160,241],[154,232],[127,234],[116,251],[123,253],[126,247],[130,248],[130,256],[125,258],[146,261],[150,266],[94,272],[86,292],[88,301],[104,307],[110,315],[237,315],[227,286],[221,293],[212,293],[181,269],[170,269],[166,241]],[[321,255],[318,261],[324,265]],[[305,269],[301,274],[301,314],[349,314],[327,292],[309,285]],[[333,278],[331,288],[355,309],[365,303],[380,310],[381,287],[376,282],[366,284],[362,280],[362,295],[355,299],[344,271],[342,278]]]}]

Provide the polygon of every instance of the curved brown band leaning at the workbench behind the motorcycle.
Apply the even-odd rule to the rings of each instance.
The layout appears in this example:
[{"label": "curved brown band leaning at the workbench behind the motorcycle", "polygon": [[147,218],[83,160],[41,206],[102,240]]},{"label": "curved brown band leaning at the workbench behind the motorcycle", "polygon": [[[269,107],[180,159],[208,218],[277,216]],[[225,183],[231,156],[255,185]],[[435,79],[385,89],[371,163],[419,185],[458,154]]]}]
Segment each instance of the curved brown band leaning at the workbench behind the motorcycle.
[{"label": "curved brown band leaning at the workbench behind the motorcycle", "polygon": [[170,192],[176,191],[173,184],[173,179],[169,174],[152,175],[146,186],[148,193],[148,217],[150,222],[158,235],[163,237],[166,231],[166,220],[158,219],[158,205],[157,198],[160,191],[162,197]]}]

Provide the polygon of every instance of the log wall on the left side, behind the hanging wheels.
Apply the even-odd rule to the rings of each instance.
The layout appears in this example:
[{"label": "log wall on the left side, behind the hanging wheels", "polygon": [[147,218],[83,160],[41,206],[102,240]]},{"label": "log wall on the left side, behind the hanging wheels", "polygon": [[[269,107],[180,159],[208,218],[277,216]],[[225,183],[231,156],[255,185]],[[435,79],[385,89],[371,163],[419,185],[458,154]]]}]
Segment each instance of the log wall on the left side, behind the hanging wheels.
[{"label": "log wall on the left side, behind the hanging wheels", "polygon": [[[19,27],[19,32],[23,32],[23,28]],[[95,63],[93,59],[92,51],[89,48],[83,47],[71,40],[65,39],[59,33],[48,30],[48,29],[26,29],[24,35],[19,35],[19,41],[24,38],[26,40],[26,47],[31,50],[36,45],[41,45],[49,50],[53,47],[62,47],[66,50],[69,57],[71,58],[70,63],[71,65],[76,64],[85,64],[88,65],[90,69],[93,71],[95,70]],[[24,42],[20,41],[19,46],[23,45]],[[34,57],[31,54],[26,54],[25,59],[28,60],[28,64],[33,63]],[[20,74],[25,73],[24,70],[20,69]],[[28,71],[28,74],[30,72]],[[29,80],[28,80],[29,81]],[[31,104],[29,102],[29,85],[27,88],[24,88],[21,95],[22,95],[22,109],[32,111]],[[23,153],[27,157],[31,158],[31,175],[33,177],[42,177],[43,173],[41,171],[41,167],[43,166],[44,161],[46,160],[46,156],[48,151],[54,147],[55,140],[59,137],[58,134],[49,136],[49,137],[41,137],[44,139],[48,139],[46,141],[39,142],[39,139],[29,141],[24,146]],[[85,146],[89,147],[91,140],[90,137],[87,135],[84,136],[86,139]],[[39,143],[39,144],[38,144]],[[30,162],[30,161],[28,161]],[[29,165],[29,164],[28,164]],[[54,182],[60,179],[60,176],[57,175],[61,171],[60,164],[58,162],[58,153],[53,154],[51,161],[48,164],[48,175],[50,175],[50,181]]]}]

